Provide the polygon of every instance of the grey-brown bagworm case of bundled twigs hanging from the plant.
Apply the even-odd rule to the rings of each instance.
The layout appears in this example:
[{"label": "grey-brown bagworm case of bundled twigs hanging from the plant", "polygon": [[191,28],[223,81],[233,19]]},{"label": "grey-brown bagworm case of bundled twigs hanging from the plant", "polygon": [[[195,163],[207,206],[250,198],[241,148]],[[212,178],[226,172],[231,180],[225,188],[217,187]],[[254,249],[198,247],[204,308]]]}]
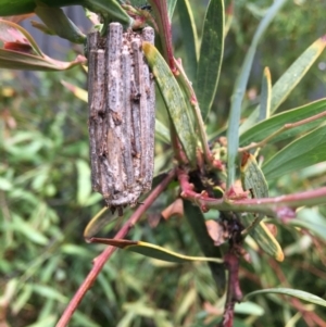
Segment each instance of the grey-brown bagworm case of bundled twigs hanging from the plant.
[{"label": "grey-brown bagworm case of bundled twigs hanging from the plant", "polygon": [[142,40],[153,43],[151,27],[124,33],[111,23],[108,37],[88,36],[91,184],[120,211],[135,205],[153,177],[155,91]]}]

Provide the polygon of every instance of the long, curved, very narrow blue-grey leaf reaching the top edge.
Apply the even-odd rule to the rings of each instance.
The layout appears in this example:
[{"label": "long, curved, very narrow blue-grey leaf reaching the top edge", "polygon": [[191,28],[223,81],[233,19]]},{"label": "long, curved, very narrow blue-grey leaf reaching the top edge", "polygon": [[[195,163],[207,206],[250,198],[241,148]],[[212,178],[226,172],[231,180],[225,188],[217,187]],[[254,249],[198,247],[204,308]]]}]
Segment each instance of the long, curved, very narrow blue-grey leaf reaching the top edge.
[{"label": "long, curved, very narrow blue-grey leaf reaching the top edge", "polygon": [[[242,63],[240,75],[235,84],[234,92],[231,96],[231,108],[229,115],[229,124],[227,128],[227,187],[230,187],[235,183],[236,178],[236,159],[238,155],[239,148],[239,125],[240,125],[240,115],[241,115],[241,104],[242,99],[246,92],[249,74],[251,71],[253,58],[255,54],[255,49],[267,29],[268,25],[272,23],[273,18],[276,16],[281,7],[286,3],[287,0],[276,0],[269,7],[266,12],[266,15],[261,21],[254,36],[250,48],[248,49],[247,55]],[[255,116],[256,118],[256,116]]]}]

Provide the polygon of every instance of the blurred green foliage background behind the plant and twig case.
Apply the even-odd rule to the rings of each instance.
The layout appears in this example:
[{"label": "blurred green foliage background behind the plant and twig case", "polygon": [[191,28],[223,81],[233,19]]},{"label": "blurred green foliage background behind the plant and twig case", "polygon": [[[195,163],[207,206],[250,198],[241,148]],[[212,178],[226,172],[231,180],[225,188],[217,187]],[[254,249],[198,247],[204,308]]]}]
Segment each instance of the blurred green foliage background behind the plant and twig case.
[{"label": "blurred green foliage background behind the plant and twig case", "polygon": [[[209,133],[223,129],[227,122],[234,83],[253,33],[271,5],[271,1],[264,0],[236,2],[217,96],[208,122]],[[199,1],[191,5],[200,34],[205,5]],[[259,101],[264,66],[271,68],[273,81],[277,80],[300,53],[326,34],[325,12],[323,0],[288,1],[283,8],[259,46],[246,95],[248,113],[250,105],[254,108]],[[176,56],[183,58],[178,24],[176,12],[174,45]],[[47,39],[51,42],[51,37]],[[75,54],[71,50],[66,56],[72,60]],[[91,268],[92,259],[103,249],[83,239],[85,226],[104,205],[90,189],[87,104],[61,80],[86,88],[87,75],[82,68],[27,75],[0,72],[1,327],[54,326]],[[325,96],[323,53],[281,108],[296,108]],[[160,108],[156,110],[160,112]],[[158,142],[156,147],[158,153],[162,153],[162,144]],[[279,178],[271,193],[325,186],[325,165],[319,164]],[[161,196],[130,237],[185,254],[199,254],[185,219],[173,217],[156,224],[160,212],[176,192],[171,187]],[[243,293],[283,286],[325,299],[325,214],[326,206],[301,211],[300,218],[312,227],[308,231],[278,226],[277,238],[286,254],[284,263],[248,248],[252,262],[242,261]],[[318,227],[313,228],[313,224]],[[115,231],[113,223],[103,235],[113,236]],[[235,326],[325,326],[323,307],[299,305],[297,300],[285,301],[276,295],[260,295],[252,301],[255,304],[247,302],[237,307]],[[167,264],[118,250],[70,326],[215,326],[222,312],[223,299],[218,299],[205,264]],[[321,324],[312,315],[317,315]]]}]

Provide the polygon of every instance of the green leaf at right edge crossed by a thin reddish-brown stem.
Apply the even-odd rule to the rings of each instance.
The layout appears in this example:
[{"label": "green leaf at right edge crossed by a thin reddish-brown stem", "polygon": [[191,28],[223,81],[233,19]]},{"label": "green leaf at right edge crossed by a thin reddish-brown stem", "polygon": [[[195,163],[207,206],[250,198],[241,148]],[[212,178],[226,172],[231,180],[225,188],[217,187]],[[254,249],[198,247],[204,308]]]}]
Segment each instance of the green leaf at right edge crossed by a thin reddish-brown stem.
[{"label": "green leaf at right edge crossed by a thin reddish-brown stem", "polygon": [[[285,124],[297,123],[324,111],[326,111],[326,99],[317,100],[315,102],[311,102],[302,106],[274,115],[271,118],[261,122],[244,131],[240,137],[240,144],[247,146],[251,142],[260,142],[275,131],[279,130],[285,126]],[[319,121],[313,121],[296,128],[287,129],[283,134],[271,139],[268,143],[285,140],[294,135],[300,135],[309,129],[316,127],[318,124],[321,124]]]}]

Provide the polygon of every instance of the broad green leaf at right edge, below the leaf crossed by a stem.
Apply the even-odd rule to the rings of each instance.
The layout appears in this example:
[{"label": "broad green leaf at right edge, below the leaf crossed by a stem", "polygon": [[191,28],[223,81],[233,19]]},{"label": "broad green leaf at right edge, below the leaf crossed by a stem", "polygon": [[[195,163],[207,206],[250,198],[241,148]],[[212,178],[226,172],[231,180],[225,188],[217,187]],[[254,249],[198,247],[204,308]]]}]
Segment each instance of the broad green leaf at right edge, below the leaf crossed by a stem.
[{"label": "broad green leaf at right edge, below the leaf crossed by a stem", "polygon": [[326,161],[326,126],[318,127],[277,152],[264,165],[267,179]]}]

